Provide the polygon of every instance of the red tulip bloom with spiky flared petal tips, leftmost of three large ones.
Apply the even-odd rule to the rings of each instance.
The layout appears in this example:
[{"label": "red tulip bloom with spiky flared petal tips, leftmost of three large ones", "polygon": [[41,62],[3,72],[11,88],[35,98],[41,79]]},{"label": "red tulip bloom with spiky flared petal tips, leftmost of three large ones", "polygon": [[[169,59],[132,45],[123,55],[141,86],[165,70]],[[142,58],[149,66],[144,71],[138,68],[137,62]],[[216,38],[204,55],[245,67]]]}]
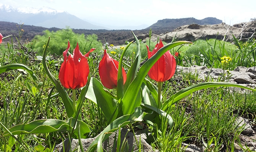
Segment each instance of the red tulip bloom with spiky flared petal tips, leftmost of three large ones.
[{"label": "red tulip bloom with spiky flared petal tips, leftmost of three large ones", "polygon": [[86,85],[89,75],[89,65],[86,57],[89,57],[89,53],[95,49],[91,49],[87,54],[83,55],[77,43],[73,55],[70,54],[67,57],[66,54],[69,48],[70,43],[68,41],[68,47],[63,52],[64,62],[60,67],[59,79],[65,88],[77,89]]}]

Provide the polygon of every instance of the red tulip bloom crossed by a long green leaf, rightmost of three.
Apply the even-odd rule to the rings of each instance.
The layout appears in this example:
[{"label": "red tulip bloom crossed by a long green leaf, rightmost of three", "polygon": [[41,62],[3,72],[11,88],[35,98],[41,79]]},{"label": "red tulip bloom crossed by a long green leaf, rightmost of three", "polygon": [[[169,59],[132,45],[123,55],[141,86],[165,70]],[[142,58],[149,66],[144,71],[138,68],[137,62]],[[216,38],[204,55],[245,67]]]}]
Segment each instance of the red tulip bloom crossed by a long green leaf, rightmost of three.
[{"label": "red tulip bloom crossed by a long green leaf, rightmost of three", "polygon": [[[163,47],[164,44],[160,39],[160,42],[156,44],[152,52],[149,51],[147,46],[147,55],[148,58],[151,58],[156,52]],[[172,78],[176,70],[176,60],[173,55],[167,51],[162,57],[153,65],[149,70],[148,75],[151,79],[154,79],[157,82],[164,82]]]}]

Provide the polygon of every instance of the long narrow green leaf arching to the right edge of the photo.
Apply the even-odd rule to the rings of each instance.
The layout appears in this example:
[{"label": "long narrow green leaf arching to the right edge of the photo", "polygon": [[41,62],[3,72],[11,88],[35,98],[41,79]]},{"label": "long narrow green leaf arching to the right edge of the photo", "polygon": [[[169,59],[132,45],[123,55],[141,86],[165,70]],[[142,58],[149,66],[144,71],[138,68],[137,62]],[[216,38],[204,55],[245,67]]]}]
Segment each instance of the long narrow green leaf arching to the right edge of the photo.
[{"label": "long narrow green leaf arching to the right edge of the photo", "polygon": [[172,106],[173,104],[177,103],[180,99],[186,97],[190,93],[195,92],[197,90],[210,88],[210,87],[240,87],[240,88],[256,91],[256,89],[252,89],[250,87],[245,87],[245,86],[241,86],[239,84],[234,84],[230,82],[203,82],[200,84],[195,84],[193,86],[187,87],[173,94],[168,100],[165,101],[161,109],[165,111],[169,106]]}]

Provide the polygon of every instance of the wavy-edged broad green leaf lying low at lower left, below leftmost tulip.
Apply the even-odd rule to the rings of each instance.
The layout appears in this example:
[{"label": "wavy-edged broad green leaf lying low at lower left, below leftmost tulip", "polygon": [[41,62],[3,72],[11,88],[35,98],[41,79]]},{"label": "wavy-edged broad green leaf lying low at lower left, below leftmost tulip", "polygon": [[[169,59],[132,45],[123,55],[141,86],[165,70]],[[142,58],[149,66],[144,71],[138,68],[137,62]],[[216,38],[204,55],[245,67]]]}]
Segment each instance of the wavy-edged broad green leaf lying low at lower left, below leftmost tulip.
[{"label": "wavy-edged broad green leaf lying low at lower left, below leftmost tulip", "polygon": [[[89,126],[84,123],[83,121],[77,120],[76,123],[80,123],[81,127],[81,134],[83,138],[86,138],[86,134],[91,132]],[[58,119],[41,119],[35,120],[30,123],[26,124],[19,124],[11,127],[9,131],[13,135],[20,135],[20,134],[31,134],[31,133],[51,133],[55,131],[69,131],[73,130],[75,126],[75,119],[69,119],[69,122],[64,122]],[[76,125],[77,126],[77,125]],[[11,136],[8,131],[5,131],[2,137]],[[78,136],[78,127],[75,127],[74,136]]]}]

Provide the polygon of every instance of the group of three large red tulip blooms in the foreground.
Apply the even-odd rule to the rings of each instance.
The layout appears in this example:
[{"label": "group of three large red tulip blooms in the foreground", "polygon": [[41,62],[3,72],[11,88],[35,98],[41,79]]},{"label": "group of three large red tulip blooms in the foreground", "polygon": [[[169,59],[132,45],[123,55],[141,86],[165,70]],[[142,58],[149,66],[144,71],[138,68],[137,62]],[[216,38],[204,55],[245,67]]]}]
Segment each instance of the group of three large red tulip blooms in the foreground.
[{"label": "group of three large red tulip blooms in the foreground", "polygon": [[[113,45],[113,44],[110,44]],[[148,58],[151,58],[156,52],[163,47],[162,40],[156,44],[153,51],[149,51],[149,47],[147,47]],[[68,50],[70,49],[70,43],[68,41],[68,47],[63,52],[64,62],[60,67],[59,79],[61,84],[68,89],[78,89],[84,87],[87,82],[87,78],[89,75],[89,65],[86,57],[89,56],[89,53],[94,51],[91,49],[86,55],[83,55],[80,50],[78,43],[76,48],[73,51],[73,55],[70,54],[67,56]],[[123,48],[121,48],[123,49]],[[110,52],[115,54],[115,51]],[[110,55],[104,50],[104,56],[99,63],[99,76],[100,80],[108,89],[116,89],[117,88],[117,75],[118,75],[118,61],[112,59]],[[167,51],[160,57],[159,60],[153,65],[153,67],[149,70],[148,75],[151,79],[154,79],[157,82],[164,82],[172,78],[176,69],[176,60],[173,55]],[[126,81],[126,73],[124,68],[122,67],[122,75],[123,75],[123,84]]]}]

